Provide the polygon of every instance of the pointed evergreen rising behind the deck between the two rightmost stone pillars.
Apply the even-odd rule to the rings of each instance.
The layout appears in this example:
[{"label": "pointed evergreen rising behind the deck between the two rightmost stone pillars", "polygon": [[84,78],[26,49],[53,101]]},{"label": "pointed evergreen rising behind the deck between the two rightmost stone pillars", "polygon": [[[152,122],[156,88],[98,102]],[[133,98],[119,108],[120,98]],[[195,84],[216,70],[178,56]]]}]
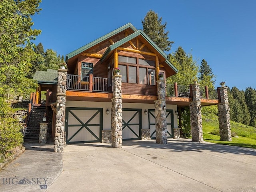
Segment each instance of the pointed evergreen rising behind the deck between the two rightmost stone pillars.
[{"label": "pointed evergreen rising behind the deck between the two rightmost stone pillars", "polygon": [[201,85],[207,85],[208,88],[214,88],[215,84],[215,75],[212,73],[210,65],[208,65],[206,60],[202,60],[199,68],[199,83]]}]

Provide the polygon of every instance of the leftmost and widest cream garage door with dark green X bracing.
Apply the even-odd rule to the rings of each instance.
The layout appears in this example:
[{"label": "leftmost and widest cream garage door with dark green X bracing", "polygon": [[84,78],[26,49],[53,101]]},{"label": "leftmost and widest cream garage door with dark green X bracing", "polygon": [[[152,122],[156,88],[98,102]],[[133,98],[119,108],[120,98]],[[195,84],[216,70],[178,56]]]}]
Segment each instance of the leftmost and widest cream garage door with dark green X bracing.
[{"label": "leftmost and widest cream garage door with dark green X bracing", "polygon": [[66,108],[66,143],[101,142],[102,108]]}]

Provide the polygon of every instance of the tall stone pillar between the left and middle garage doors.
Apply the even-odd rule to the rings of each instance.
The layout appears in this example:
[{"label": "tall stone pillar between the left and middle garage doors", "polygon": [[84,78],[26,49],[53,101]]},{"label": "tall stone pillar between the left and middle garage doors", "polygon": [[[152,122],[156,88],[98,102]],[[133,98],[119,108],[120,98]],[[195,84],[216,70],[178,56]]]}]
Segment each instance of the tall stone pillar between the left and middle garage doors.
[{"label": "tall stone pillar between the left and middle garage doors", "polygon": [[111,107],[112,147],[122,147],[122,76],[114,75]]}]

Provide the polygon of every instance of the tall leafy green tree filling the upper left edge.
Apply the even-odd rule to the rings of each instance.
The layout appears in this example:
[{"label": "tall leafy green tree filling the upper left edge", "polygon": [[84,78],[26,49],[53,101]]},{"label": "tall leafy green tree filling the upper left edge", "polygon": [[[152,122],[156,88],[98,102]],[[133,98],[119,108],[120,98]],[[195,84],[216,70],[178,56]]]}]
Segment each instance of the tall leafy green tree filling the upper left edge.
[{"label": "tall leafy green tree filling the upper left edge", "polygon": [[20,84],[30,84],[26,78],[36,54],[30,42],[40,30],[32,29],[31,16],[38,13],[41,0],[0,1],[0,94],[8,89],[19,94],[26,92]]}]

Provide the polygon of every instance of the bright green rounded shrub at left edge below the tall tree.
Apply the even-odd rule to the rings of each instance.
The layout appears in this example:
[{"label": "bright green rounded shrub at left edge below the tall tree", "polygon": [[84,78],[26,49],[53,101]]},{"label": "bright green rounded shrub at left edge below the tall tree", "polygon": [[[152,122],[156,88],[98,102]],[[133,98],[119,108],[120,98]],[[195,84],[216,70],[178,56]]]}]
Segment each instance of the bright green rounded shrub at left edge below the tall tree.
[{"label": "bright green rounded shrub at left edge below the tall tree", "polygon": [[16,119],[2,118],[0,120],[0,153],[4,154],[23,143],[21,129],[22,126]]}]

